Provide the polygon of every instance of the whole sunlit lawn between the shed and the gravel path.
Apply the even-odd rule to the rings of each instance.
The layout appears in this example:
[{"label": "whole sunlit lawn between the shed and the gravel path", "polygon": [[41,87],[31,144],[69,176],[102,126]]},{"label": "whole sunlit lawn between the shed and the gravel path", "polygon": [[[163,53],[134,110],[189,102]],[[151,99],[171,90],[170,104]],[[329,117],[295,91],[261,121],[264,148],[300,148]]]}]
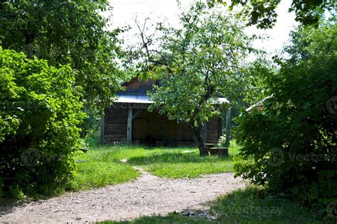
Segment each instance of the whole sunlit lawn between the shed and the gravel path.
[{"label": "whole sunlit lawn between the shed and the gravel path", "polygon": [[[132,166],[142,167],[159,177],[186,178],[202,174],[232,172],[232,157],[237,154],[235,142],[230,147],[230,157],[200,157],[194,147],[144,147],[95,146],[78,155],[77,177],[70,189],[80,191],[95,187],[119,184],[139,177]],[[120,159],[127,159],[126,163]]]}]

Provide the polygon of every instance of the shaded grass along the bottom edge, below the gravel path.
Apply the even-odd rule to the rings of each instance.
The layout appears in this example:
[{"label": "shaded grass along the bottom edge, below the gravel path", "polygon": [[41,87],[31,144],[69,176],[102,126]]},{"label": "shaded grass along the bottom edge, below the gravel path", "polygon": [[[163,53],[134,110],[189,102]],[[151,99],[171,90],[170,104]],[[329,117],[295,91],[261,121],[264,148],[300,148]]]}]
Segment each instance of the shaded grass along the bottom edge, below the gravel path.
[{"label": "shaded grass along the bottom edge, below the gravel path", "polygon": [[287,201],[282,196],[262,192],[258,187],[250,186],[221,196],[210,204],[210,213],[215,216],[215,220],[170,214],[103,223],[333,223],[333,220],[314,217],[307,208]]}]

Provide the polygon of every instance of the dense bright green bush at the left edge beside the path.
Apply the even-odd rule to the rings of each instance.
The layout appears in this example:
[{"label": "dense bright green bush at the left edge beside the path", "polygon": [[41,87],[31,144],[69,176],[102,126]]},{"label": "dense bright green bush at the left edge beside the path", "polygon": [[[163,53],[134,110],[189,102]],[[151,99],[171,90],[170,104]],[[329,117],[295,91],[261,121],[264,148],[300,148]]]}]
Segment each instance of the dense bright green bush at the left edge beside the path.
[{"label": "dense bright green bush at the left edge beside the path", "polygon": [[49,194],[74,172],[82,103],[68,66],[0,47],[0,192]]}]

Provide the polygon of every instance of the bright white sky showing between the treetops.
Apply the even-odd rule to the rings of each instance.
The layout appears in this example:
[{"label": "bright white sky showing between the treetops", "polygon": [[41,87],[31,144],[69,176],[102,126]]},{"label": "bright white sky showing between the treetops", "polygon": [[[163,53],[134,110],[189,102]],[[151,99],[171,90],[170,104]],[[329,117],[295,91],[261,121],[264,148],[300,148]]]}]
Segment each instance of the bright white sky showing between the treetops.
[{"label": "bright white sky showing between the treetops", "polygon": [[[181,8],[186,9],[193,0],[181,0]],[[269,54],[274,55],[277,50],[282,50],[282,45],[289,38],[289,31],[296,25],[294,21],[294,13],[288,13],[291,0],[282,0],[277,9],[277,23],[270,30],[259,30],[255,27],[247,28],[247,34],[267,34],[268,40],[261,40],[255,43],[255,47],[267,50]],[[134,19],[139,19],[140,22],[145,18],[151,18],[151,21],[167,21],[171,25],[178,24],[178,15],[181,9],[177,4],[177,0],[110,0],[110,5],[113,9],[113,27],[126,26],[132,27],[132,30],[124,36],[126,41],[134,43],[134,33],[136,32],[136,23]]]}]

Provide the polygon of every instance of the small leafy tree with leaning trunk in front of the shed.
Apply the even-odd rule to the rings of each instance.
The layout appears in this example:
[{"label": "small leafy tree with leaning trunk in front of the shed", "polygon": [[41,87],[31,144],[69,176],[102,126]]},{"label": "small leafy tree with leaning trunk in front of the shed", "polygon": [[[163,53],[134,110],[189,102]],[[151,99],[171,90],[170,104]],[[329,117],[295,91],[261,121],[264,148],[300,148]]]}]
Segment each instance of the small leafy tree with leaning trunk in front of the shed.
[{"label": "small leafy tree with leaning trunk in front of the shed", "polygon": [[[239,18],[208,10],[197,2],[181,14],[181,28],[159,23],[159,38],[140,30],[141,69],[162,79],[150,93],[152,109],[175,119],[193,136],[200,155],[208,150],[201,135],[203,123],[218,112],[217,99],[235,100],[243,89],[247,54],[253,49]],[[144,66],[145,65],[145,66]]]}]

